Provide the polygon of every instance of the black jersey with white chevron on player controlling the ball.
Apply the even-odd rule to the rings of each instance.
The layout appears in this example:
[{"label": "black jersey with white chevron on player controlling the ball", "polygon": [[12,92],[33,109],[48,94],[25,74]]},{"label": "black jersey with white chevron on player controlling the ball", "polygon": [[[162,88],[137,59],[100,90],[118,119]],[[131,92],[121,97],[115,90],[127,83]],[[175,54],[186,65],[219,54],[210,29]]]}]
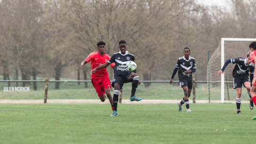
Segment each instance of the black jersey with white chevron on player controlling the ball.
[{"label": "black jersey with white chevron on player controlling the ball", "polygon": [[112,57],[108,60],[109,63],[115,62],[114,75],[127,75],[131,73],[126,69],[126,63],[129,61],[134,61],[134,55],[128,51],[125,54],[122,54],[121,51],[114,53]]}]

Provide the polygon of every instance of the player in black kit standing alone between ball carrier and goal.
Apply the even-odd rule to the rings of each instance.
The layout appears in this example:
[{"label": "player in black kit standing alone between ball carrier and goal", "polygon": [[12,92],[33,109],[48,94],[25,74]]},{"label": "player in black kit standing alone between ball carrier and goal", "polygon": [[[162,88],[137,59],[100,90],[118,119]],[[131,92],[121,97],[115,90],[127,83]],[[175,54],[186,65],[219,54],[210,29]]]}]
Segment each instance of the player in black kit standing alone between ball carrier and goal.
[{"label": "player in black kit standing alone between ball carrier and goal", "polygon": [[173,70],[172,78],[170,84],[172,84],[172,80],[175,74],[178,72],[178,77],[180,81],[180,87],[182,87],[184,91],[184,97],[181,102],[178,102],[179,111],[182,111],[182,105],[185,103],[187,107],[187,111],[191,112],[189,109],[189,100],[190,93],[192,90],[192,73],[196,71],[196,63],[193,57],[190,57],[190,50],[188,47],[185,47],[183,51],[184,56],[178,59],[176,67]]}]

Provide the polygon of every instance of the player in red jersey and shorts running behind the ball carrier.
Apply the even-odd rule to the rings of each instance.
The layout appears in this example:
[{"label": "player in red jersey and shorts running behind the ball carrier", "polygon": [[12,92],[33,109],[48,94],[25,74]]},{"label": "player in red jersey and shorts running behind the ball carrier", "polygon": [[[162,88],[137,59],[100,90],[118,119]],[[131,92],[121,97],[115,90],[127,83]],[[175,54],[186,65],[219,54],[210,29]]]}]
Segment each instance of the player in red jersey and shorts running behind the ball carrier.
[{"label": "player in red jersey and shorts running behind the ball carrier", "polygon": [[[107,62],[110,59],[110,56],[105,53],[106,49],[106,43],[100,41],[97,43],[98,46],[98,52],[92,52],[89,54],[89,56],[81,63],[81,68],[84,67],[84,65],[91,61],[92,69],[102,65],[103,63]],[[110,66],[114,69],[115,63],[111,63]],[[108,77],[108,71],[107,68],[103,68],[96,73],[92,74],[92,85],[94,86],[100,100],[102,102],[105,101],[106,95],[109,99],[109,102],[111,104],[112,110],[114,110],[114,104],[113,104],[113,97],[110,93],[111,84]]]}]

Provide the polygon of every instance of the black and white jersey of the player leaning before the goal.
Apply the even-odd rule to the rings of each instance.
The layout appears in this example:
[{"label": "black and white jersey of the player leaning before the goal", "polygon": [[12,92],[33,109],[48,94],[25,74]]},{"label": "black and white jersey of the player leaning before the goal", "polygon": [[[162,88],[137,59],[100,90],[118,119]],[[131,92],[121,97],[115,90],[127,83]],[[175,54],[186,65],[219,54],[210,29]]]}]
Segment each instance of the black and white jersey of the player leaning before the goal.
[{"label": "black and white jersey of the player leaning before the goal", "polygon": [[251,62],[249,65],[246,65],[246,58],[238,57],[235,59],[231,59],[231,63],[236,63],[236,66],[234,67],[232,73],[233,77],[245,75],[249,76],[249,71],[251,74],[254,73],[254,63]]}]

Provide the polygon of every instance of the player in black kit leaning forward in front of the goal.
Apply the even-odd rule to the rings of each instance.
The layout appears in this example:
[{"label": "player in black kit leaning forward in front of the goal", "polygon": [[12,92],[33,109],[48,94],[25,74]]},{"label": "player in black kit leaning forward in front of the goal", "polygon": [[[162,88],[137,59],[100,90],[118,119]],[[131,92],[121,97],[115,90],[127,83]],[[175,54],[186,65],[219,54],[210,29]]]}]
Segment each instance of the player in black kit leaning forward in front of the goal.
[{"label": "player in black kit leaning forward in front of the goal", "polygon": [[[252,81],[253,79],[253,73],[254,73],[254,63],[252,63],[250,58],[250,52],[247,54],[246,58],[238,57],[235,59],[229,59],[225,62],[222,69],[218,72],[218,75],[221,75],[224,73],[225,68],[227,67],[228,63],[233,63],[235,65],[233,69],[233,77],[234,77],[234,89],[236,89],[237,95],[236,95],[236,107],[237,107],[237,114],[241,114],[241,95],[242,95],[242,85],[247,89],[247,93],[250,97],[250,109],[253,109],[253,101],[250,94],[251,90],[251,83],[250,79]],[[250,79],[249,79],[249,71],[250,71]]]}]

